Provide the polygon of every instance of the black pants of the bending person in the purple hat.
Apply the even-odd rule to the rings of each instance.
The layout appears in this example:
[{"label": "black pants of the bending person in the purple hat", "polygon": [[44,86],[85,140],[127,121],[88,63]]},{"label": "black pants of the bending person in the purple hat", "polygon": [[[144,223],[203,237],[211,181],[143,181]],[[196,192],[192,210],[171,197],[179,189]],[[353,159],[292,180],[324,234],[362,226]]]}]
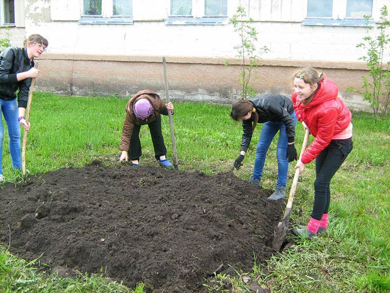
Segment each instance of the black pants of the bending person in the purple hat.
[{"label": "black pants of the bending person in the purple hat", "polygon": [[[161,133],[161,115],[157,116],[157,119],[148,124],[150,135],[152,136],[153,147],[155,149],[155,156],[158,160],[160,156],[167,154],[167,148],[164,145],[164,138]],[[140,125],[134,125],[133,133],[131,135],[131,141],[129,146],[129,158],[130,160],[139,160],[142,155],[141,142],[139,141]]]}]

